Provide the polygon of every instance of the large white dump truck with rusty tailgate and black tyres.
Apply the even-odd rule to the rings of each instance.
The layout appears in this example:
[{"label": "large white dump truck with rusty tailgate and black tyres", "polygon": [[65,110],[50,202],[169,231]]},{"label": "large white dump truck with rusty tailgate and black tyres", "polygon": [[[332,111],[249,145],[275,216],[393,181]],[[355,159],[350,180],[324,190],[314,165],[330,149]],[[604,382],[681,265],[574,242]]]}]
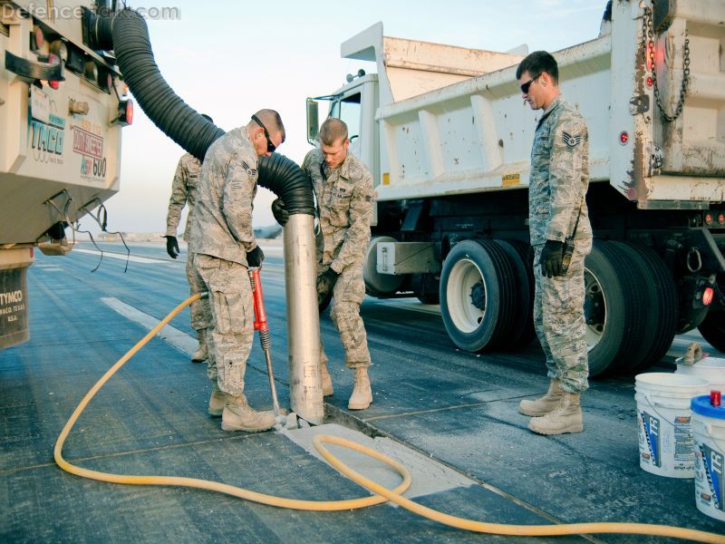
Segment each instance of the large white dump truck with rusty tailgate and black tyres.
[{"label": "large white dump truck with rusty tailgate and black tyres", "polygon": [[[598,36],[553,53],[590,134],[592,375],[642,371],[695,327],[725,350],[723,21],[720,0],[614,0]],[[515,77],[527,51],[392,38],[375,24],[341,53],[377,73],[308,99],[307,139],[330,101],[372,171],[368,294],[440,303],[463,350],[529,343],[527,185],[540,112]]]}]

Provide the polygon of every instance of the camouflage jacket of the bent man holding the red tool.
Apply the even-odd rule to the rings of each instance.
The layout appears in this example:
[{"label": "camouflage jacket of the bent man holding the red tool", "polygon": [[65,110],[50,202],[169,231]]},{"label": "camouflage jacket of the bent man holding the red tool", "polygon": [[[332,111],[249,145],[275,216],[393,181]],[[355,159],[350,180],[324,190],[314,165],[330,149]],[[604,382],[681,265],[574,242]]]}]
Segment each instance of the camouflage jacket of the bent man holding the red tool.
[{"label": "camouflage jacket of the bent man holding the red tool", "polygon": [[247,266],[247,251],[256,248],[256,165],[256,151],[244,127],[211,145],[201,167],[189,251]]}]

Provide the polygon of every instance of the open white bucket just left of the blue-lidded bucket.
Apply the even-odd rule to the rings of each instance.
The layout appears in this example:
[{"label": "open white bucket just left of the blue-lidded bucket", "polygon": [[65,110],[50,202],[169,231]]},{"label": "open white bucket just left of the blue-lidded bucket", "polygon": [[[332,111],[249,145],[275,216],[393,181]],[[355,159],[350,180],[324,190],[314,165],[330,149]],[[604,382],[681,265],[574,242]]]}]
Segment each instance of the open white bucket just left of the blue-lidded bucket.
[{"label": "open white bucket just left of the blue-lidded bucket", "polygon": [[709,393],[709,384],[694,376],[650,373],[634,377],[640,467],[670,478],[693,478],[691,398]]}]

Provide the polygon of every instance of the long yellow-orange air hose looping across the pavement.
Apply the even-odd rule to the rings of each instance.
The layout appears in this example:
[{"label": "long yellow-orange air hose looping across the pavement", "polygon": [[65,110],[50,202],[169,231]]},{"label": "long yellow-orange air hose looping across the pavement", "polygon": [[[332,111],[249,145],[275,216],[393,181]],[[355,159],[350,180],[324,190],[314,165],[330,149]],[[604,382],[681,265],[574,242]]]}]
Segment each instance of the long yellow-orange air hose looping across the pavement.
[{"label": "long yellow-orange air hose looping across the pavement", "polygon": [[[121,366],[126,364],[133,355],[135,355],[141,347],[146,345],[151,338],[153,338],[159,331],[177,316],[186,306],[189,306],[192,302],[197,301],[203,295],[192,295],[189,296],[184,302],[174,308],[168,316],[164,317],[159,325],[156,325],[150,330],[148,335],[145,335],[140,341],[129,350],[126,355],[123,355],[119,361],[111,366],[111,368],[103,374],[102,378],[96,382],[91,390],[85,394],[82,398],[81,403],[73,411],[70,419],[65,426],[63,431],[58,436],[58,440],[55,442],[55,449],[53,456],[55,462],[63,471],[70,472],[83,478],[89,478],[91,480],[98,481],[110,481],[112,483],[125,483],[133,485],[169,485],[169,486],[184,486],[191,488],[198,488],[208,491],[218,491],[219,493],[226,493],[240,499],[253,500],[262,504],[268,504],[270,506],[277,506],[280,508],[287,508],[292,510],[316,510],[316,511],[333,511],[333,510],[354,510],[359,508],[365,508],[375,504],[382,504],[387,500],[391,500],[401,507],[411,510],[416,514],[428,518],[430,520],[438,521],[450,527],[457,529],[466,529],[475,532],[483,532],[498,535],[515,535],[515,536],[530,536],[530,537],[550,537],[559,535],[571,535],[571,534],[587,534],[587,533],[628,533],[628,534],[643,534],[660,537],[670,537],[677,539],[690,539],[696,542],[711,542],[725,544],[725,536],[710,533],[696,529],[685,529],[681,527],[673,527],[670,525],[650,525],[646,523],[610,523],[610,522],[598,522],[598,523],[569,523],[562,525],[505,525],[501,523],[487,523],[484,521],[466,520],[464,518],[458,518],[445,514],[438,510],[432,510],[425,506],[418,504],[410,499],[406,499],[401,496],[401,493],[405,492],[411,485],[410,472],[406,470],[399,462],[392,460],[387,455],[380,452],[375,452],[370,448],[362,446],[357,442],[351,442],[343,438],[336,436],[330,436],[326,434],[319,434],[314,437],[314,447],[323,455],[324,459],[327,460],[335,469],[341,471],[350,480],[354,481],[358,485],[375,493],[372,497],[365,497],[362,499],[351,499],[351,500],[298,500],[298,499],[286,499],[284,497],[275,497],[273,495],[266,495],[264,493],[258,493],[256,491],[245,490],[238,488],[233,485],[226,483],[220,483],[218,481],[200,480],[198,478],[186,478],[182,476],[141,476],[132,474],[114,474],[111,472],[91,471],[83,469],[73,463],[65,461],[63,459],[63,444],[65,443],[68,434],[73,429],[73,425],[76,423],[78,418],[81,416],[83,410],[85,410],[88,403],[91,402],[92,398],[98,393],[102,386],[111,379],[113,374],[121,369]],[[337,459],[331,452],[325,447],[324,443],[332,443],[343,448],[361,452],[365,455],[372,457],[378,461],[381,461],[391,467],[392,470],[397,471],[402,478],[402,482],[394,490],[389,490],[382,485],[369,480],[358,474],[357,472],[350,469],[342,461]]]}]

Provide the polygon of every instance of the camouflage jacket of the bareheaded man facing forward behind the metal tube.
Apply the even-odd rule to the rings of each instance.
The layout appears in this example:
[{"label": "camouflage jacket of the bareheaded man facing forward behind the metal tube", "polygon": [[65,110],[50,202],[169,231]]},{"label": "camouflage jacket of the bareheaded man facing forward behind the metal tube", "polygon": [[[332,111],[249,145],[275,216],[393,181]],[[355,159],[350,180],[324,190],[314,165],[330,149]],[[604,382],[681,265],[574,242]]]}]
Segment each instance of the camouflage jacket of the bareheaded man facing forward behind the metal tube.
[{"label": "camouflage jacket of the bareheaded man facing forward behind the metal tube", "polygon": [[372,219],[370,171],[349,151],[343,164],[330,170],[318,149],[307,153],[302,170],[312,178],[317,199],[320,220],[318,261],[338,273],[352,265],[362,266],[370,242]]}]

